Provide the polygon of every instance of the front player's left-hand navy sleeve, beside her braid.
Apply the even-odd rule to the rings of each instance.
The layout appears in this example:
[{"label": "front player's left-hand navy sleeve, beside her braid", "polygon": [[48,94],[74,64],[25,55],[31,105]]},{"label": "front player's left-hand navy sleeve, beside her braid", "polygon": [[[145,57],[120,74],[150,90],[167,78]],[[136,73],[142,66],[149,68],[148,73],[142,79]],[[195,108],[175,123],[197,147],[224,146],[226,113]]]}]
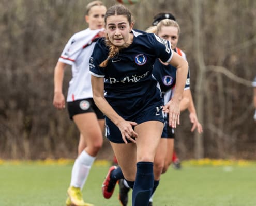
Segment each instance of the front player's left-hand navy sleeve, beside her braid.
[{"label": "front player's left-hand navy sleeve, beside her braid", "polygon": [[105,71],[99,65],[108,58],[108,49],[104,43],[104,39],[100,38],[94,47],[92,56],[89,60],[90,73],[96,77],[104,77]]}]

